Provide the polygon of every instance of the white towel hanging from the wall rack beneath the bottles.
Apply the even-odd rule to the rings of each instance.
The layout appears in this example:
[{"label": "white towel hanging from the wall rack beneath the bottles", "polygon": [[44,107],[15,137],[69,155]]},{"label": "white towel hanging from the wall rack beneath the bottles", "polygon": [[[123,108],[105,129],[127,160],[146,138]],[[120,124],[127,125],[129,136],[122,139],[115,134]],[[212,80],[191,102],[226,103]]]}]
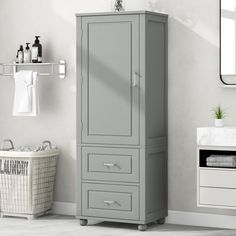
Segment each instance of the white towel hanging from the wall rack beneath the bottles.
[{"label": "white towel hanging from the wall rack beneath the bottles", "polygon": [[37,78],[38,73],[33,71],[15,73],[14,116],[36,116],[39,113]]}]

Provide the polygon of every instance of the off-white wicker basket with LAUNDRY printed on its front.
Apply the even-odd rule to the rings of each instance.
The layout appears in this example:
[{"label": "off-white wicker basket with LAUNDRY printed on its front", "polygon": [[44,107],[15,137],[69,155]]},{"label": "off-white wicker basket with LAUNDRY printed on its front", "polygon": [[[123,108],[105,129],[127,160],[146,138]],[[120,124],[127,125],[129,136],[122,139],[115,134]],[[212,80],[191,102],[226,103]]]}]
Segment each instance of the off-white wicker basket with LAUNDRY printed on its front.
[{"label": "off-white wicker basket with LAUNDRY printed on its front", "polygon": [[0,151],[1,216],[32,219],[52,208],[58,155],[57,148]]}]

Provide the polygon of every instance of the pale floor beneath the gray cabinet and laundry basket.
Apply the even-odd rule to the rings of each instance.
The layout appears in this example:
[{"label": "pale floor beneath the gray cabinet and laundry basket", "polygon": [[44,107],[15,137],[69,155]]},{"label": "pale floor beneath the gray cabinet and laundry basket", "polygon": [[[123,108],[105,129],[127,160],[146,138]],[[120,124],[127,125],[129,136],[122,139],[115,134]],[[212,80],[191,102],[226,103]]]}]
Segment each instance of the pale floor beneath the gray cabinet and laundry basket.
[{"label": "pale floor beneath the gray cabinet and laundry basket", "polygon": [[179,225],[150,225],[140,232],[136,225],[89,223],[80,226],[78,220],[66,216],[47,216],[37,220],[0,219],[0,236],[236,236],[236,230],[220,230]]}]

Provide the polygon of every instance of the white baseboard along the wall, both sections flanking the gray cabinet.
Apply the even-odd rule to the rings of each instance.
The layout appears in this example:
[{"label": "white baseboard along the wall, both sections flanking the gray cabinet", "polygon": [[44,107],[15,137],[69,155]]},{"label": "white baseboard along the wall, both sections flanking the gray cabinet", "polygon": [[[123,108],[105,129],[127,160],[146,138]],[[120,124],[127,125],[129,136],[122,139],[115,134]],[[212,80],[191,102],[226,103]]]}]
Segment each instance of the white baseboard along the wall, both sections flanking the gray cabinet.
[{"label": "white baseboard along the wall, both sections flanking the gray cabinet", "polygon": [[[72,202],[54,202],[53,213],[58,215],[76,215],[76,204]],[[236,216],[215,215],[206,213],[186,212],[186,211],[168,211],[166,223],[204,226],[215,228],[236,229]]]}]

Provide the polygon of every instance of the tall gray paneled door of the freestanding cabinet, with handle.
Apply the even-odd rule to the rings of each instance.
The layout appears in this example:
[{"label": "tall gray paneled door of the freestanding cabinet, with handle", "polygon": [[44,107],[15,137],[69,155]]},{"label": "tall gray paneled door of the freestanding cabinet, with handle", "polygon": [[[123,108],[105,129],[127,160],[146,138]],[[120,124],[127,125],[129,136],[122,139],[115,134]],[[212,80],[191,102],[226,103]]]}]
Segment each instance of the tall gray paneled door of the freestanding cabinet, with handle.
[{"label": "tall gray paneled door of the freestanding cabinet, with handle", "polygon": [[83,17],[81,56],[82,143],[138,145],[139,17]]}]

